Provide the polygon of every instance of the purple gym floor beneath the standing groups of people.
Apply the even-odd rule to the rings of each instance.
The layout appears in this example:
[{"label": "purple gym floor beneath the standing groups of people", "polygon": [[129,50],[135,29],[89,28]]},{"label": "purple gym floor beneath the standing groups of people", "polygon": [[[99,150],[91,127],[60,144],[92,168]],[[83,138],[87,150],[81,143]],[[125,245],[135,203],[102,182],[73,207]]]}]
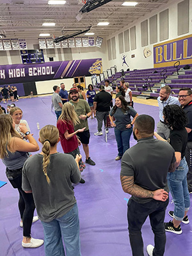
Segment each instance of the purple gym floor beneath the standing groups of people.
[{"label": "purple gym floor beneath the standing groups of people", "polygon": [[[31,132],[38,139],[38,129],[47,124],[56,125],[56,116],[51,112],[51,96],[20,99],[16,102],[23,111],[23,119],[28,121]],[[6,106],[6,104],[3,104]],[[144,104],[134,104],[139,114],[152,115],[156,124],[159,120],[158,108]],[[120,184],[120,161],[117,156],[116,141],[113,128],[109,129],[108,142],[104,135],[94,136],[97,132],[97,120],[89,119],[90,126],[90,156],[95,166],[86,165],[82,173],[85,184],[75,185],[75,196],[79,207],[81,252],[83,256],[128,256],[132,255],[127,231],[127,201],[129,195],[122,191]],[[131,136],[131,146],[134,145]],[[41,148],[41,145],[40,145]],[[80,147],[84,160],[83,148]],[[58,145],[58,152],[63,152]],[[142,157],[142,156],[138,156]],[[154,166],[155,168],[155,166]],[[0,180],[8,181],[5,167],[0,161]],[[0,255],[2,256],[40,256],[45,255],[44,246],[36,249],[24,249],[21,246],[22,228],[19,227],[19,210],[17,207],[19,194],[8,182],[0,188]],[[173,204],[168,205],[165,220],[169,221],[168,211],[173,210]],[[189,211],[192,223],[192,213]],[[181,224],[182,234],[176,235],[166,232],[166,256],[192,255],[191,223]],[[33,223],[31,234],[34,238],[44,239],[44,232],[40,221]],[[154,236],[147,219],[142,228],[144,255],[146,246],[154,244]]]}]

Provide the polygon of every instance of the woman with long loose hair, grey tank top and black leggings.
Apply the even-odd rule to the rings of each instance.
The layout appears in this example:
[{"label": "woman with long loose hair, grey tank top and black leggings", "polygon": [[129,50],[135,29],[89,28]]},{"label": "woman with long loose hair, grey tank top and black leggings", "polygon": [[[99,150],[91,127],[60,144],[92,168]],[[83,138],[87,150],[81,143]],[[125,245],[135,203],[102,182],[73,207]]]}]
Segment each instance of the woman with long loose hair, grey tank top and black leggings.
[{"label": "woman with long loose hair, grey tank top and black leggings", "polygon": [[20,134],[15,131],[15,123],[11,115],[0,115],[0,158],[6,166],[8,180],[13,188],[19,191],[20,227],[23,227],[22,246],[36,248],[41,246],[44,240],[31,237],[31,224],[38,220],[38,217],[33,217],[35,211],[33,195],[26,194],[22,190],[22,166],[29,157],[28,152],[35,152],[39,147],[26,125],[20,124],[19,129],[29,142],[22,140]]}]

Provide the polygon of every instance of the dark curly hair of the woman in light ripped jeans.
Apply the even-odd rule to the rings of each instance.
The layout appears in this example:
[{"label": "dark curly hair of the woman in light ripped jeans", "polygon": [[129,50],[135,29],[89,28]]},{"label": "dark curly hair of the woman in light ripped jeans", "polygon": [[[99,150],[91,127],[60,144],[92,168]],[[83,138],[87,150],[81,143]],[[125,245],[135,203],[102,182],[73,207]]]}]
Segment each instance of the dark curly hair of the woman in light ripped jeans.
[{"label": "dark curly hair of the woman in light ripped jeans", "polygon": [[164,122],[170,129],[181,130],[188,124],[186,113],[178,105],[167,105],[163,108]]}]

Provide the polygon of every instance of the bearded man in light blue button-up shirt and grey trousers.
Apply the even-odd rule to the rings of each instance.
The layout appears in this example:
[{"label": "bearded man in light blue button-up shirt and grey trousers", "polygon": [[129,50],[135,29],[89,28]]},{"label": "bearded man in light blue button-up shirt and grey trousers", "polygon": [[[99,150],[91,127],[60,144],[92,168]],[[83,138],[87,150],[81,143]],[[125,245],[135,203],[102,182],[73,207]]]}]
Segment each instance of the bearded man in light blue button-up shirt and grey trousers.
[{"label": "bearded man in light blue button-up shirt and grey trousers", "polygon": [[157,133],[164,138],[164,140],[168,140],[170,136],[170,129],[167,125],[164,125],[164,119],[163,119],[163,108],[166,105],[173,105],[176,104],[180,106],[179,100],[177,97],[170,96],[172,90],[170,86],[166,85],[163,88],[161,88],[159,92],[159,97],[157,98],[158,105],[159,105],[159,119],[160,121],[157,124]]}]

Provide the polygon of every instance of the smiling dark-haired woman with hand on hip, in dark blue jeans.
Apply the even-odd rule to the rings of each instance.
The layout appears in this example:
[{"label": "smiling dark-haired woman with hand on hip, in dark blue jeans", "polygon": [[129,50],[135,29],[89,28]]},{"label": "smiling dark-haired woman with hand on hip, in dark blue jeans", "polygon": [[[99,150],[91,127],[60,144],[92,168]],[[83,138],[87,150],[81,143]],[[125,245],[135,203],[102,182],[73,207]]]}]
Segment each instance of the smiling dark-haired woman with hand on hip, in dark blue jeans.
[{"label": "smiling dark-haired woman with hand on hip, in dark blue jeans", "polygon": [[[112,116],[115,117],[115,122],[113,122]],[[133,117],[132,121],[131,116]],[[132,125],[137,116],[138,113],[128,105],[122,95],[116,97],[115,106],[109,113],[111,124],[115,127],[115,138],[118,147],[118,156],[115,158],[116,161],[120,160],[124,152],[129,148]]]}]

